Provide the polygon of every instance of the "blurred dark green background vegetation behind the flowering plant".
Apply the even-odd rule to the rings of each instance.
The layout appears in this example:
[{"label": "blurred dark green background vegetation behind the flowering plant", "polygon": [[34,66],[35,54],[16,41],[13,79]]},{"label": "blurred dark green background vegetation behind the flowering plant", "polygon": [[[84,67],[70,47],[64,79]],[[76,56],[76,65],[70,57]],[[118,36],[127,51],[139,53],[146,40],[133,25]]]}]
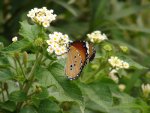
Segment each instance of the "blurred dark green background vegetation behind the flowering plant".
[{"label": "blurred dark green background vegetation behind the flowering plant", "polygon": [[[127,46],[130,58],[150,67],[149,0],[0,0],[0,42],[4,46],[12,43],[11,38],[18,36],[19,21],[26,20],[32,8],[43,6],[54,9],[58,15],[49,31],[67,33],[72,40],[84,40],[87,33],[100,30],[113,44]],[[140,89],[141,83],[150,83],[150,72],[131,70],[129,75],[132,77],[125,80],[125,92],[138,97],[141,94],[136,88]],[[91,110],[91,105],[87,108]]]}]

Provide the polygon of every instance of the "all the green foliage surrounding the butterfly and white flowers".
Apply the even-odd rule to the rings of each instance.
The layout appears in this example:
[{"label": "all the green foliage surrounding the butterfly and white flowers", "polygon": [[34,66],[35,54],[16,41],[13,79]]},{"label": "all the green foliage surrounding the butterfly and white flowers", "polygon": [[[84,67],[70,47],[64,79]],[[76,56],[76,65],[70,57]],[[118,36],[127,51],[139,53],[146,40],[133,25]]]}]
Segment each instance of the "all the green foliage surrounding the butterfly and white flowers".
[{"label": "all the green foliage surrounding the butterfly and white flowers", "polygon": [[[7,11],[9,5],[12,11]],[[148,0],[8,0],[8,6],[0,5],[1,113],[150,112],[149,97],[144,97],[141,88],[150,83]],[[58,15],[49,28],[22,21],[27,20],[26,11],[40,6],[53,8]],[[48,34],[60,31],[72,40],[87,40],[87,33],[94,30],[106,33],[108,41],[94,44],[96,57],[79,79],[71,81],[64,72],[65,59],[46,51]],[[8,45],[6,37],[11,39],[14,34],[19,40]],[[130,65],[115,73],[117,83],[109,75],[111,56]],[[125,85],[124,90],[119,89],[120,84]]]}]

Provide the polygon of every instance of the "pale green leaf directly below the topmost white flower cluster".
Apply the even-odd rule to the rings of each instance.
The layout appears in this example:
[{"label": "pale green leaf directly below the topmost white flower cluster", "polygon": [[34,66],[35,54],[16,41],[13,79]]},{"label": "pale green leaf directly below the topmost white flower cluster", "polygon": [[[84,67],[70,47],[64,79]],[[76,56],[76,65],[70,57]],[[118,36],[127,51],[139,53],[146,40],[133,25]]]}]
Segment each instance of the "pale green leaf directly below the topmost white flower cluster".
[{"label": "pale green leaf directly below the topmost white flower cluster", "polygon": [[35,38],[38,37],[38,35],[41,31],[39,26],[30,25],[27,21],[23,21],[20,24],[21,24],[21,29],[19,31],[19,34],[21,36],[29,39],[30,41],[33,41]]}]

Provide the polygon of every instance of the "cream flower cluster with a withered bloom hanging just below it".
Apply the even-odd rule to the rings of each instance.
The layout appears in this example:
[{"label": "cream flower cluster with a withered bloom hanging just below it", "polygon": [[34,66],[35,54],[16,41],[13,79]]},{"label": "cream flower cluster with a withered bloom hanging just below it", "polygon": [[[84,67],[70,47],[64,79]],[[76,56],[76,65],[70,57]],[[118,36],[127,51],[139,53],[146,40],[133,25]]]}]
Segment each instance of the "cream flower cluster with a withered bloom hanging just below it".
[{"label": "cream flower cluster with a withered bloom hanging just below it", "polygon": [[116,69],[120,69],[120,68],[128,69],[129,68],[129,64],[127,62],[119,59],[116,56],[111,56],[111,58],[108,59],[108,62],[111,64],[113,68],[116,68]]}]

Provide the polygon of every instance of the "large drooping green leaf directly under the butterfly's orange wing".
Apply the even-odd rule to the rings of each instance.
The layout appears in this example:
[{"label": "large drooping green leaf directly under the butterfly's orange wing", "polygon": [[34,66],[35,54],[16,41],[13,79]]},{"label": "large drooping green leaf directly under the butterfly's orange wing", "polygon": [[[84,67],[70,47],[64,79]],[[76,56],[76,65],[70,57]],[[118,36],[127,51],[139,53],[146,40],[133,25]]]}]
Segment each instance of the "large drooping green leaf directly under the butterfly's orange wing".
[{"label": "large drooping green leaf directly under the butterfly's orange wing", "polygon": [[55,98],[60,99],[62,97],[62,101],[75,101],[83,107],[82,92],[79,87],[73,83],[73,81],[67,79],[64,74],[64,67],[61,64],[53,63],[48,69],[52,74],[51,76],[54,77],[53,84],[56,85],[59,91],[59,94],[55,95]]}]

